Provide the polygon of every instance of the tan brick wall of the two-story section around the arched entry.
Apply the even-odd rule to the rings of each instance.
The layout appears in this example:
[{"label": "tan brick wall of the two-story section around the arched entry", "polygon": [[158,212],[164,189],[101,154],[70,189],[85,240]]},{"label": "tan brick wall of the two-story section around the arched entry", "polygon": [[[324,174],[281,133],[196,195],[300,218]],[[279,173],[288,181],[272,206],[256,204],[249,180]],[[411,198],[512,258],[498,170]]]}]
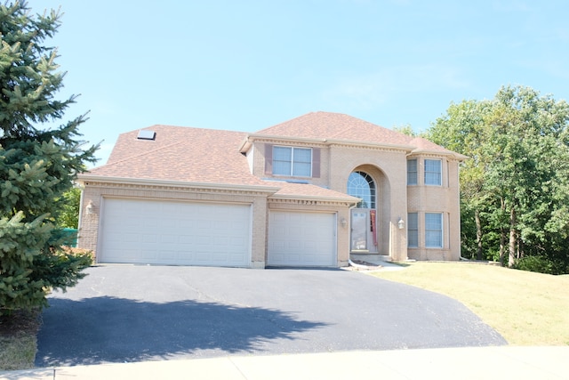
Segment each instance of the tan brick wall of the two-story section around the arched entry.
[{"label": "tan brick wall of the two-story section around the arched entry", "polygon": [[[265,173],[265,144],[279,141],[258,140],[253,143],[252,172],[261,178],[271,178]],[[283,142],[281,142],[283,144]],[[290,142],[284,145],[317,147],[320,149],[320,176],[304,179],[315,185],[347,192],[349,174],[363,171],[373,177],[377,186],[377,251],[393,260],[407,258],[418,260],[459,260],[461,255],[459,162],[448,160],[445,155],[414,155],[418,159],[418,184],[407,186],[408,150],[397,147],[357,146],[353,143]],[[423,183],[424,159],[442,161],[442,186],[425,186]],[[276,178],[276,177],[273,177]],[[282,179],[282,178],[281,178]],[[442,213],[444,216],[444,245],[442,248],[424,247],[425,230],[420,222],[420,247],[407,247],[407,213]],[[349,220],[349,210],[344,212]],[[340,217],[340,216],[339,216]],[[399,218],[405,228],[397,226]],[[346,244],[349,247],[349,233]],[[341,246],[339,246],[341,247]],[[340,248],[339,248],[340,249]],[[348,248],[349,249],[349,248]]]}]

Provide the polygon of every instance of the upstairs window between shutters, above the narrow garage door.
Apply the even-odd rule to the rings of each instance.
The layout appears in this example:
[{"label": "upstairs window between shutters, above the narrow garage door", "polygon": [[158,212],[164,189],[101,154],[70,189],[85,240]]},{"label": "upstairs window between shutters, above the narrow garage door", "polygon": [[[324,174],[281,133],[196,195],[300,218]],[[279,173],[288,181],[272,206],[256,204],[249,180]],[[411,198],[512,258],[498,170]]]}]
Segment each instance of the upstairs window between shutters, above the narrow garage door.
[{"label": "upstairs window between shutters, above the narrow garage door", "polygon": [[310,148],[273,147],[273,174],[310,177],[312,150]]}]

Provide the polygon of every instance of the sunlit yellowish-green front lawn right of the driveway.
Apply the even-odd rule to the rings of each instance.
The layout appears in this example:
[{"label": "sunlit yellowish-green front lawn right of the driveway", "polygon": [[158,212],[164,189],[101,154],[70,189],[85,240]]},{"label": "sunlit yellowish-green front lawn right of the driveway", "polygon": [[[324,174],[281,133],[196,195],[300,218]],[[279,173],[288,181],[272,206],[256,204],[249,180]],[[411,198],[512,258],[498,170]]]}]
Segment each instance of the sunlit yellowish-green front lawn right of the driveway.
[{"label": "sunlit yellowish-green front lawn right of the driveway", "polygon": [[569,275],[477,263],[405,263],[373,276],[448,295],[513,345],[569,345]]}]

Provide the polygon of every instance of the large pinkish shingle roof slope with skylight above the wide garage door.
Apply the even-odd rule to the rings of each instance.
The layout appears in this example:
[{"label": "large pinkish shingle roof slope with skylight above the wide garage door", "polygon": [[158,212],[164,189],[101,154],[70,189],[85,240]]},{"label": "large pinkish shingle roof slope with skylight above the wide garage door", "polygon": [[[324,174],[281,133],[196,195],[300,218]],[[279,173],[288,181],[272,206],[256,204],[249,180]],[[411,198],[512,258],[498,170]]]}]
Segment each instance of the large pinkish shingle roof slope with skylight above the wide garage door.
[{"label": "large pinkish shingle roof slope with skylight above the wide garage door", "polygon": [[179,182],[266,185],[249,172],[237,147],[245,133],[153,125],[156,140],[138,140],[138,131],[123,133],[105,166],[89,174]]}]

